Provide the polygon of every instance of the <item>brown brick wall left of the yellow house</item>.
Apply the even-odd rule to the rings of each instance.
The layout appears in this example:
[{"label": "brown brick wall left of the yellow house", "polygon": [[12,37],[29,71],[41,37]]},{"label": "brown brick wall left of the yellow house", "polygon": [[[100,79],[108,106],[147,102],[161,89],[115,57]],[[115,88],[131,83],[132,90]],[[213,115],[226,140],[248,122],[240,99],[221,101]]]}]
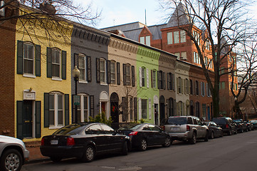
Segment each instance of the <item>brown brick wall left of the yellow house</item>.
[{"label": "brown brick wall left of the yellow house", "polygon": [[[6,9],[7,15],[10,12]],[[0,134],[13,137],[15,135],[15,26],[15,21],[0,24]]]}]

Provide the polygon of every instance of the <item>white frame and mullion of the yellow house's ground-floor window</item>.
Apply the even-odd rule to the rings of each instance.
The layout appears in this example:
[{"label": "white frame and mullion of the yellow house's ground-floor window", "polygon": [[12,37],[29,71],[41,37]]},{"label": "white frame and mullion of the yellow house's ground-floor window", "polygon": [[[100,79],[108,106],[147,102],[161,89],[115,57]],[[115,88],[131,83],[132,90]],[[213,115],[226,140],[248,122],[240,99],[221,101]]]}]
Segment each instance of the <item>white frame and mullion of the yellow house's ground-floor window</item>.
[{"label": "white frame and mullion of the yellow house's ground-floor window", "polygon": [[[64,94],[63,93],[59,93],[59,92],[51,92],[51,93],[49,93],[49,96],[50,95],[54,95],[53,97],[54,97],[54,99],[53,99],[53,112],[54,112],[54,114],[53,114],[53,116],[54,116],[54,118],[53,118],[53,123],[54,123],[54,125],[49,125],[49,128],[51,129],[51,128],[61,128],[61,127],[63,127],[64,126],[64,123],[65,123],[65,115],[64,115],[64,110],[65,110],[65,106],[64,106]],[[61,111],[58,107],[58,95],[61,95],[62,96],[62,101],[63,101],[63,103],[62,103],[62,105],[63,105],[63,108],[61,109],[62,111],[63,111],[63,124],[61,125],[61,124],[58,124],[58,111]],[[50,103],[50,102],[49,102]],[[50,108],[49,108],[49,110],[51,110]],[[50,120],[49,120],[49,123],[50,123]]]}]

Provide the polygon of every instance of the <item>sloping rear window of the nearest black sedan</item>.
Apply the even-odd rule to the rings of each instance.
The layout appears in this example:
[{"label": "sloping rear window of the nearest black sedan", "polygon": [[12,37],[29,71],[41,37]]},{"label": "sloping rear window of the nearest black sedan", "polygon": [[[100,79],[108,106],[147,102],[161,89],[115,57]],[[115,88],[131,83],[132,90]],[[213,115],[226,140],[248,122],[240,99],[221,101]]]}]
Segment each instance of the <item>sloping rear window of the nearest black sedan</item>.
[{"label": "sloping rear window of the nearest black sedan", "polygon": [[83,125],[80,124],[72,124],[72,125],[67,125],[59,130],[57,130],[53,135],[76,135],[78,134],[81,130],[85,128]]}]

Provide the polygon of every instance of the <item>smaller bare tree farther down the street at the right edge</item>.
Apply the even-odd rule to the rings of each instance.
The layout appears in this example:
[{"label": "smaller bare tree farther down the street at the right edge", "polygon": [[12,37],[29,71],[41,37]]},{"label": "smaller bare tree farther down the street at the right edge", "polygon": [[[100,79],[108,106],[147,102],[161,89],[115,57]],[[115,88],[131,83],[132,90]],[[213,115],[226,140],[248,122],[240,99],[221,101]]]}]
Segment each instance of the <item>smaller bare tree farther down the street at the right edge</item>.
[{"label": "smaller bare tree farther down the street at the right edge", "polygon": [[[243,103],[248,95],[248,89],[256,83],[257,76],[257,40],[255,36],[246,38],[236,46],[236,61],[231,65],[231,93],[235,99],[236,118],[243,118],[239,105]],[[237,74],[238,73],[238,74]],[[235,93],[234,79],[238,77],[238,93]],[[250,92],[255,93],[255,92]],[[240,97],[240,98],[239,98]],[[251,97],[248,96],[251,100]],[[253,104],[253,101],[251,100]],[[254,107],[254,105],[253,105]]]}]

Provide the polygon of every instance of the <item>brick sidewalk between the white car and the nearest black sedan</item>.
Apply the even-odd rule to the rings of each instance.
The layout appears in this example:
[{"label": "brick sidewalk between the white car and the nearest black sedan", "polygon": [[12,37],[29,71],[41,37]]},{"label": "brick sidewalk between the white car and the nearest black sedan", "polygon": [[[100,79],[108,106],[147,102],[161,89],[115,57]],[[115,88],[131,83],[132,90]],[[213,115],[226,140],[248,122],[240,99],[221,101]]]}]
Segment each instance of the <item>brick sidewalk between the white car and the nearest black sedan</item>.
[{"label": "brick sidewalk between the white car and the nearest black sedan", "polygon": [[41,155],[40,152],[40,143],[41,142],[25,142],[26,149],[29,151],[29,157],[28,161],[25,162],[25,164],[31,164],[35,162],[44,162],[44,161],[49,161],[49,157],[44,157]]}]

